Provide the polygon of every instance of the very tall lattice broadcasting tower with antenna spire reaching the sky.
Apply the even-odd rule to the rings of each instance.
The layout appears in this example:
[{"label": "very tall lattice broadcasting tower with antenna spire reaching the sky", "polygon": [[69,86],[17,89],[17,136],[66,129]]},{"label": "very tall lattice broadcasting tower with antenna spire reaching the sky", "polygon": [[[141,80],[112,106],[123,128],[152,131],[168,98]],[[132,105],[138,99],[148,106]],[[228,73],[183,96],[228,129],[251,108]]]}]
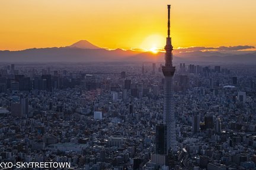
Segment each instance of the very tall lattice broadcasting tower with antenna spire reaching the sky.
[{"label": "very tall lattice broadcasting tower with antenna spire reaching the sky", "polygon": [[164,90],[164,124],[167,125],[167,153],[177,152],[176,128],[175,128],[175,115],[174,104],[172,103],[172,77],[174,76],[175,67],[172,66],[172,44],[170,38],[170,8],[168,6],[168,37],[167,44],[165,45],[165,66],[162,66],[162,72],[165,77],[165,90]]}]

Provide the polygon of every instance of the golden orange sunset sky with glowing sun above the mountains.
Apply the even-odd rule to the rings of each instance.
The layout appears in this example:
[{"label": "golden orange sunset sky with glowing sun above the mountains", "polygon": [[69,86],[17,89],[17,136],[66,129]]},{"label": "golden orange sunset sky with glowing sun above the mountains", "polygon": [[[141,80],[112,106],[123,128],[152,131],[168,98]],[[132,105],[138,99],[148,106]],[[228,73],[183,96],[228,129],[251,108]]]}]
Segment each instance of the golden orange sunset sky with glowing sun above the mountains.
[{"label": "golden orange sunset sky with glowing sun above the mountains", "polygon": [[0,50],[165,45],[171,4],[174,48],[256,46],[255,0],[1,0]]}]

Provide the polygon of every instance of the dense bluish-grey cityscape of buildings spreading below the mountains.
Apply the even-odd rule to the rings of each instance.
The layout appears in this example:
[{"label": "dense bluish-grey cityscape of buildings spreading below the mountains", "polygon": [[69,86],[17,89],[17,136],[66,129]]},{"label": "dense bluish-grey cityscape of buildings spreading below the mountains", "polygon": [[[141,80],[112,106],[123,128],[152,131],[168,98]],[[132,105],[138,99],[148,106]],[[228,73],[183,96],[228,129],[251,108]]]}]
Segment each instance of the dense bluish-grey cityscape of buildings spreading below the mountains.
[{"label": "dense bluish-grey cityscape of buildings spreading below the mountains", "polygon": [[[175,65],[177,144],[185,152],[176,168],[254,169],[255,67]],[[78,169],[161,169],[161,67],[2,64],[0,159],[71,162]]]}]

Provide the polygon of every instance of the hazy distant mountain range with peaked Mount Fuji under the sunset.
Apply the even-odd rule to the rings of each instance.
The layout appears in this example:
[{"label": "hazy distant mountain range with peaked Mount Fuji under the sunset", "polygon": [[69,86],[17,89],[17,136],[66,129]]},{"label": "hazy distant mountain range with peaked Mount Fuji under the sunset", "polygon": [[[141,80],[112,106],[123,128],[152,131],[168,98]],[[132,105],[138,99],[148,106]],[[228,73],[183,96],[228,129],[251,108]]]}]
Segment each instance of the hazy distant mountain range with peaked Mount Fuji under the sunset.
[{"label": "hazy distant mountain range with peaked Mount Fuji under the sunset", "polygon": [[[93,61],[152,61],[164,62],[164,53],[153,54],[133,50],[107,50],[81,40],[67,47],[31,48],[21,51],[0,51],[1,62],[93,62]],[[207,61],[256,63],[256,52],[222,53],[193,51],[180,53],[174,50],[174,62]]]}]

